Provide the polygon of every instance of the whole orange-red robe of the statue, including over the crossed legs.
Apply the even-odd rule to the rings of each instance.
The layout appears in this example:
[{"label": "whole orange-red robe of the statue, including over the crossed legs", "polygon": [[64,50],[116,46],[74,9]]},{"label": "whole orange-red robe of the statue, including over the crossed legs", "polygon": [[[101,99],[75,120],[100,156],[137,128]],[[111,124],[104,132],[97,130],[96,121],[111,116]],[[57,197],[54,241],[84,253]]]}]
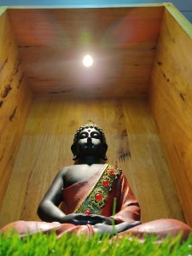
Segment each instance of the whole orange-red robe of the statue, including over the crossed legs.
[{"label": "whole orange-red robe of the statue, including over the crossed legs", "polygon": [[[93,187],[96,180],[100,176],[100,171],[94,177],[84,179],[79,183],[75,183],[66,189],[63,189],[63,212],[66,214],[73,213],[75,207],[84,198],[84,195]],[[116,213],[113,214],[113,199],[116,198]],[[108,201],[102,208],[101,215],[114,218],[116,224],[123,222],[134,222],[140,220],[140,207],[131,192],[129,183],[126,177],[121,174],[113,184],[113,189],[110,191]],[[20,236],[26,236],[27,232],[49,233],[55,230],[57,236],[62,236],[65,233],[73,232],[76,234],[84,234],[92,236],[94,234],[93,226],[90,224],[75,225],[75,224],[60,224],[58,222],[46,223],[41,221],[16,221],[3,227],[0,233],[7,230],[15,230],[20,233]],[[167,233],[172,233],[177,236],[179,231],[183,231],[183,239],[189,236],[192,231],[191,228],[181,221],[176,219],[158,219],[145,224],[139,224],[129,230],[119,233],[119,238],[125,234],[131,233],[133,236],[143,237],[143,234],[153,234],[159,236],[166,236]]]}]

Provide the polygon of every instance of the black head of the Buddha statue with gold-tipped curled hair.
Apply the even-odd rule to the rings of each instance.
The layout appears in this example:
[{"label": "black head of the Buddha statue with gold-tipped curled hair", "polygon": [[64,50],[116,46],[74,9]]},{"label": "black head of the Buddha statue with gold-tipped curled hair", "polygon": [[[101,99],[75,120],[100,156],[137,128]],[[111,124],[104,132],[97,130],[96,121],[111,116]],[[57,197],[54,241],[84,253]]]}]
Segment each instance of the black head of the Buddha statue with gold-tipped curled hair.
[{"label": "black head of the Buddha statue with gold-tipped curled hair", "polygon": [[94,154],[101,160],[108,160],[106,157],[108,145],[105,134],[102,128],[92,121],[79,127],[75,133],[71,149],[73,160],[79,160],[84,154]]}]

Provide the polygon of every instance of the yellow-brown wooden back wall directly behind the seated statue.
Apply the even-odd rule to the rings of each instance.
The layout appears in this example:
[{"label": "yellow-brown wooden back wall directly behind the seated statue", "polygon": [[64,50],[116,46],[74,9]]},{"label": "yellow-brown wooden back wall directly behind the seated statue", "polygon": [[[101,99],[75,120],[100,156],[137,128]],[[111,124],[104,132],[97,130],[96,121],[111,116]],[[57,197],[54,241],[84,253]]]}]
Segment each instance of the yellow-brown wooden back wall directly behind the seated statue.
[{"label": "yellow-brown wooden back wall directly behind the seated statue", "polygon": [[64,100],[38,97],[21,139],[0,225],[38,220],[37,207],[55,174],[73,165],[73,135],[89,119],[101,125],[108,142],[108,162],[123,168],[142,208],[142,221],[183,220],[162,152],[157,127],[145,98]]}]

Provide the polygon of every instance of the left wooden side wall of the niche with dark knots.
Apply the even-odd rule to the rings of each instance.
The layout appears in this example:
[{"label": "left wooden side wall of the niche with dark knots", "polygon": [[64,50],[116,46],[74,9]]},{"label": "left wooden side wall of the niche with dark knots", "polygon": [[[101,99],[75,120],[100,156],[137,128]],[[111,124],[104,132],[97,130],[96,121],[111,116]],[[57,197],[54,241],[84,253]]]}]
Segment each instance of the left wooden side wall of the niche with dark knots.
[{"label": "left wooden side wall of the niche with dark knots", "polygon": [[0,16],[0,207],[15,161],[32,93],[6,13]]}]

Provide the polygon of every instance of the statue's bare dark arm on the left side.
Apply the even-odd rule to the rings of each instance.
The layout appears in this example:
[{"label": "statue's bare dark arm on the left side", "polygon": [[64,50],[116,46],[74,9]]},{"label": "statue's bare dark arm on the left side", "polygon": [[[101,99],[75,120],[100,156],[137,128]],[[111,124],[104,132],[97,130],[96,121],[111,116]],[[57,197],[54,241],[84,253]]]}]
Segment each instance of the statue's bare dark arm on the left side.
[{"label": "statue's bare dark arm on the left side", "polygon": [[64,187],[63,177],[66,170],[62,169],[59,172],[49,190],[44,195],[44,199],[38,206],[38,217],[46,222],[58,221],[62,222],[66,214],[62,212],[58,206],[62,201],[62,189]]}]

